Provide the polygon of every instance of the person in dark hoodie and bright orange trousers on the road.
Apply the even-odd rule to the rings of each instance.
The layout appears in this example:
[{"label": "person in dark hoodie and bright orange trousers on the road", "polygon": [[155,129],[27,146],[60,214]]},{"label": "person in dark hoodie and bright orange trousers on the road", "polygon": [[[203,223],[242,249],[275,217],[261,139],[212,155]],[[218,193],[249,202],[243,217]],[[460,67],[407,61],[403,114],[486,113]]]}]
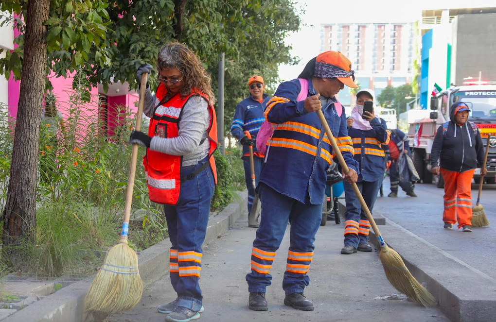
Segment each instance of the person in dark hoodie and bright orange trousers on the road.
[{"label": "person in dark hoodie and bright orange trousers on the road", "polygon": [[[432,172],[444,179],[444,229],[472,231],[472,178],[484,164],[484,145],[479,128],[468,121],[470,108],[456,102],[449,108],[450,120],[437,129],[431,150]],[[439,162],[440,159],[440,162]],[[488,169],[481,169],[486,175]]]}]

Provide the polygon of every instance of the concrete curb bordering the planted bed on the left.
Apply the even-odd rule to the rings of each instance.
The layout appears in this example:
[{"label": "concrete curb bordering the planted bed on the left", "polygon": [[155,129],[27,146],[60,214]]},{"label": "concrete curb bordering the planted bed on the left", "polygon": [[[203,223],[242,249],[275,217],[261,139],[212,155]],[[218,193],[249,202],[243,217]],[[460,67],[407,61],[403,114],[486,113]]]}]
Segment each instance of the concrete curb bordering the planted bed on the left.
[{"label": "concrete curb bordering the planted bed on the left", "polygon": [[[229,204],[218,215],[209,218],[204,245],[225,233],[245,211],[248,192],[245,190],[237,193],[241,201]],[[141,251],[138,255],[139,273],[145,287],[168,273],[169,265],[164,263],[169,262],[170,247],[171,243],[169,239],[166,239]],[[95,276],[96,274],[64,287],[14,313],[2,322],[93,321],[94,317],[84,312],[84,297]]]}]

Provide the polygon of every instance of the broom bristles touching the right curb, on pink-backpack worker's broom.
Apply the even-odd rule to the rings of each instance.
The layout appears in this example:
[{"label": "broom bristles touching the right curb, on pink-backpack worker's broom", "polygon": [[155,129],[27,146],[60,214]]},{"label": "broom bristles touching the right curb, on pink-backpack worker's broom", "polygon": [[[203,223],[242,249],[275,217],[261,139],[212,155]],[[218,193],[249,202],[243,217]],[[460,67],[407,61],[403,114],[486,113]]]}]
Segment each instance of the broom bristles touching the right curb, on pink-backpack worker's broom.
[{"label": "broom bristles touching the right curb, on pink-backpack worker's broom", "polygon": [[379,258],[386,277],[394,288],[425,307],[436,305],[434,296],[415,279],[394,249],[381,249]]}]

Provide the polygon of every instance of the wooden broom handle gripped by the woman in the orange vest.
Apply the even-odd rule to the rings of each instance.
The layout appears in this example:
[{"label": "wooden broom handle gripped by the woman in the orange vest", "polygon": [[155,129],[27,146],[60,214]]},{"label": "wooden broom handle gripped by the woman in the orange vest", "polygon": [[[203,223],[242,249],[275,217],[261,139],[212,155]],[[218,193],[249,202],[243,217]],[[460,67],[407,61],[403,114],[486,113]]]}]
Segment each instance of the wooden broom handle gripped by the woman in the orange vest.
[{"label": "wooden broom handle gripped by the woman in the orange vest", "polygon": [[[145,91],[147,80],[148,73],[143,73],[141,75],[141,87],[139,89],[138,111],[136,112],[136,131],[141,131],[141,119],[143,117],[143,107],[145,105]],[[138,144],[132,145],[131,166],[129,169],[129,178],[127,179],[127,193],[125,196],[124,223],[129,223],[129,218],[131,216],[132,191],[134,189],[134,176],[136,175],[136,163],[138,161],[138,147]],[[121,238],[124,238],[127,241],[127,233],[123,234]]]}]

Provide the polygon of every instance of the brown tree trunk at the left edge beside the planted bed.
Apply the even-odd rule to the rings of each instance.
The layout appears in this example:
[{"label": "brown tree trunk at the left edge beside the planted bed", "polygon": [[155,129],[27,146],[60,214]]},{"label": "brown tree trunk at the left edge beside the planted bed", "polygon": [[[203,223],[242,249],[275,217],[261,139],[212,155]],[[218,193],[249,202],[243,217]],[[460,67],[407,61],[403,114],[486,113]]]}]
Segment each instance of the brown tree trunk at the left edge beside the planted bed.
[{"label": "brown tree trunk at the left edge beside the planted bed", "polygon": [[[47,68],[47,26],[50,0],[28,0],[19,109],[15,126],[10,181],[3,210],[3,246],[36,239],[36,184],[41,111]],[[7,248],[12,263],[22,255]]]}]

